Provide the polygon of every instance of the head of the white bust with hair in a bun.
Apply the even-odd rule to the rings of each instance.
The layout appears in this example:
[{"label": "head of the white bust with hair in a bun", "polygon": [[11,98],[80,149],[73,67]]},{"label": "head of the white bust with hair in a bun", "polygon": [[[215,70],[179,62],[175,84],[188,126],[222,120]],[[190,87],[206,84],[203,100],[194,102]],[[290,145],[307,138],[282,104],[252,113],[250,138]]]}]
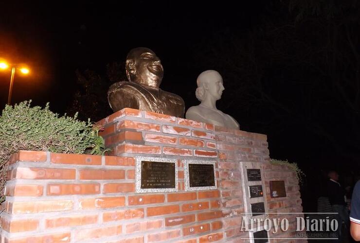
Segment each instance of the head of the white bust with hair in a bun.
[{"label": "head of the white bust with hair in a bun", "polygon": [[198,88],[196,89],[196,98],[200,102],[205,98],[220,100],[224,90],[222,77],[215,70],[206,70],[200,73],[197,79]]}]

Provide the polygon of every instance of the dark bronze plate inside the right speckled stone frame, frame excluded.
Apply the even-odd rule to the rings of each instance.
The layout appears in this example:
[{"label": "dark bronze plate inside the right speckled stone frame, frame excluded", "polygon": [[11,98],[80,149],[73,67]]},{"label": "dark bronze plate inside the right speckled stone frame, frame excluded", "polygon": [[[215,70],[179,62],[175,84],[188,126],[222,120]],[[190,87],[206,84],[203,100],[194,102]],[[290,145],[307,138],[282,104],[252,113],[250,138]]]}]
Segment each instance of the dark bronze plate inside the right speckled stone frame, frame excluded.
[{"label": "dark bronze plate inside the right speckled stone frame, frame excluded", "polygon": [[189,184],[190,187],[215,186],[214,165],[189,164]]}]

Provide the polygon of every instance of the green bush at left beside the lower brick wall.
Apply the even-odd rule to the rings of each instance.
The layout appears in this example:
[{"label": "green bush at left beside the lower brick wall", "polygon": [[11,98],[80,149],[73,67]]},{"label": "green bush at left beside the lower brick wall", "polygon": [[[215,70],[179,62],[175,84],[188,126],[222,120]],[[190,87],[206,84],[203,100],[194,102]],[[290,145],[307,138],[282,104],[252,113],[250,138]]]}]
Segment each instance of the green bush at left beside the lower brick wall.
[{"label": "green bush at left beside the lower brick wall", "polygon": [[59,117],[45,108],[30,107],[31,101],[14,106],[6,105],[0,116],[0,190],[6,182],[7,163],[19,150],[50,151],[55,153],[102,154],[104,139],[90,120],[79,121],[66,114]]}]

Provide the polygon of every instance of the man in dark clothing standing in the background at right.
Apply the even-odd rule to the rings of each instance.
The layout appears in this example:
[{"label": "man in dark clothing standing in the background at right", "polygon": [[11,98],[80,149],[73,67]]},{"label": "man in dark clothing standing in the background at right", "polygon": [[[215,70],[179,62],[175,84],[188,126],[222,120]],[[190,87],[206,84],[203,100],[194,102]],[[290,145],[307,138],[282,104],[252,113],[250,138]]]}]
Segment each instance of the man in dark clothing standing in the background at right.
[{"label": "man in dark clothing standing in the background at right", "polygon": [[327,194],[333,211],[338,213],[338,238],[339,242],[341,242],[342,221],[345,222],[347,229],[349,229],[350,225],[349,214],[346,210],[346,192],[338,182],[339,174],[336,171],[330,171],[327,175],[330,178],[327,184]]}]

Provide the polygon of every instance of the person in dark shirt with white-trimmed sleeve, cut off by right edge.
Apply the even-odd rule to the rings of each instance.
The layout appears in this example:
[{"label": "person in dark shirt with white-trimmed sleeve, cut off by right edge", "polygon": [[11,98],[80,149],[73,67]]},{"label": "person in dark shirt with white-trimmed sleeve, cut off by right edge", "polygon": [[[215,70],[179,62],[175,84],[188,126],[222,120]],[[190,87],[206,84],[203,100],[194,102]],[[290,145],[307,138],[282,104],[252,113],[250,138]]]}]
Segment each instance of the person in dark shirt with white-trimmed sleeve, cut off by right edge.
[{"label": "person in dark shirt with white-trimmed sleeve, cut off by right edge", "polygon": [[355,241],[360,241],[360,181],[355,184],[351,197],[350,234]]}]

